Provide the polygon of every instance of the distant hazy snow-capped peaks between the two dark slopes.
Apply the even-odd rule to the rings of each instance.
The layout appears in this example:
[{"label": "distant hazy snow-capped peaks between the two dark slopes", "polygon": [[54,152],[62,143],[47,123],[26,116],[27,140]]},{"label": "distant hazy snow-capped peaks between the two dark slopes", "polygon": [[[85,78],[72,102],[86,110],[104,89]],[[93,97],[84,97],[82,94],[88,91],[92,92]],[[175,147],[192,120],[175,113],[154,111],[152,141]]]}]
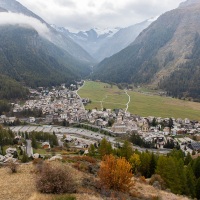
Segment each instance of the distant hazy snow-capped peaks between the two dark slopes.
[{"label": "distant hazy snow-capped peaks between the two dark slopes", "polygon": [[52,27],[78,43],[97,61],[101,61],[127,47],[154,20],[146,20],[127,28],[104,30],[94,28],[88,31],[79,31],[78,33],[72,33],[63,27],[57,27],[55,25],[52,25]]}]

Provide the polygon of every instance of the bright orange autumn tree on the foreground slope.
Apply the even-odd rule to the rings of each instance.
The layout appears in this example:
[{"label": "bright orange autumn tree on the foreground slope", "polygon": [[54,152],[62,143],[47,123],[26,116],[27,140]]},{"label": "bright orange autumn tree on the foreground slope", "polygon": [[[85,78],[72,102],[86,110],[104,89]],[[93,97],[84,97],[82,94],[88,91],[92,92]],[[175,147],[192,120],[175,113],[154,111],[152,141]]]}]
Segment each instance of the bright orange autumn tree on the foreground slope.
[{"label": "bright orange autumn tree on the foreground slope", "polygon": [[106,155],[103,157],[99,170],[100,182],[107,189],[128,191],[132,186],[131,168],[131,164],[125,158]]}]

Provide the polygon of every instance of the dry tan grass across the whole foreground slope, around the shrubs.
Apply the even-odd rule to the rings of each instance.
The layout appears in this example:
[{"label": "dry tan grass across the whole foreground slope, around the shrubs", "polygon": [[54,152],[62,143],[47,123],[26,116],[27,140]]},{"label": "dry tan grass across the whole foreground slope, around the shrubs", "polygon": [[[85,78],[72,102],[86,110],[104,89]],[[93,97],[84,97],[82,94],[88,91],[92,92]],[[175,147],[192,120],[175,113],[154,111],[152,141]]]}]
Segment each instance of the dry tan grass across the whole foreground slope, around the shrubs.
[{"label": "dry tan grass across the whole foreground slope, around the shrubs", "polygon": [[[67,164],[69,165],[69,164]],[[33,164],[22,164],[17,173],[12,173],[8,167],[0,168],[0,199],[4,200],[65,200],[68,195],[53,195],[39,193],[35,186],[35,176],[37,171]],[[102,197],[93,187],[93,174],[82,172],[74,168],[71,169],[73,175],[78,180],[77,193],[73,194],[76,200],[122,200],[120,193],[116,193],[108,198]],[[83,180],[89,180],[89,184]],[[91,184],[92,183],[92,184]],[[131,193],[134,196],[131,199],[145,200],[187,200],[188,198],[177,196],[166,191],[155,189],[148,185],[145,179],[135,179]],[[119,195],[116,197],[116,195]],[[63,198],[64,197],[64,198]]]}]

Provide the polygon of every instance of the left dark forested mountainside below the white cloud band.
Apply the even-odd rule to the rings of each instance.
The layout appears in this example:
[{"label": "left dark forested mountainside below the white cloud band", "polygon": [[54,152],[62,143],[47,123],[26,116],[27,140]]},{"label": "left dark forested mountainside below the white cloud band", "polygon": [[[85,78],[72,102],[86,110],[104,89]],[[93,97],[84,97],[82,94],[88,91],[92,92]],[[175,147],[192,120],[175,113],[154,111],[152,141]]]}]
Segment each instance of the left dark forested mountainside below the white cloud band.
[{"label": "left dark forested mountainside below the white cloud band", "polygon": [[56,85],[80,78],[75,72],[85,73],[81,63],[40,37],[35,30],[0,26],[0,41],[1,74],[26,85]]}]

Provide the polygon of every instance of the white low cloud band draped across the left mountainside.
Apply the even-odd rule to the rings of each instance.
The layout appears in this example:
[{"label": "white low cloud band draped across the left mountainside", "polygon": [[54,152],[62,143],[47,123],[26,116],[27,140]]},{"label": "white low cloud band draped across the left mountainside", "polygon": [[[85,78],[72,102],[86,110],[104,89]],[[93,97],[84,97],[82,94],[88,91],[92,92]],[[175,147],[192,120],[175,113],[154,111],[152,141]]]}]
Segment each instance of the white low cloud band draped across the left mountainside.
[{"label": "white low cloud band draped across the left mountainside", "polygon": [[39,20],[28,17],[23,14],[17,14],[17,13],[0,13],[0,26],[4,25],[19,25],[22,27],[27,28],[33,28],[37,31],[37,33],[45,37],[47,39],[49,38],[50,31],[46,24],[43,24]]}]

